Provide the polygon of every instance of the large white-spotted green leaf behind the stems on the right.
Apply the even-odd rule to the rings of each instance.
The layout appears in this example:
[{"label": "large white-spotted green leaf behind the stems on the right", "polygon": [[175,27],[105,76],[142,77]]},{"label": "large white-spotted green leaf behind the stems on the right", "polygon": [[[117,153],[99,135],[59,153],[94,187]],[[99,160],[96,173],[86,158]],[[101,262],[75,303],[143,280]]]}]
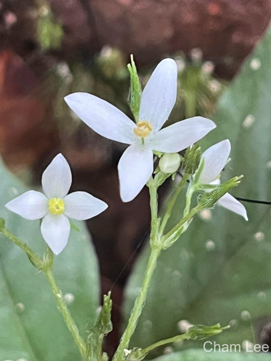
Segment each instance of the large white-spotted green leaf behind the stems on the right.
[{"label": "large white-spotted green leaf behind the stems on the right", "polygon": [[[215,118],[217,128],[202,143],[204,150],[228,138],[232,161],[222,172],[221,181],[243,174],[240,186],[231,194],[269,201],[270,58],[269,30],[221,97]],[[183,202],[184,192],[173,209],[171,227],[180,220]],[[192,324],[223,325],[236,320],[231,329],[216,336],[219,342],[253,342],[253,333],[261,330],[270,314],[271,222],[270,206],[251,203],[245,206],[248,222],[216,205],[195,216],[180,239],[161,252],[131,348],[147,347],[178,334],[178,322],[183,319]],[[125,320],[141,286],[148,257],[146,248],[126,287]],[[195,346],[194,341],[189,343]]]}]

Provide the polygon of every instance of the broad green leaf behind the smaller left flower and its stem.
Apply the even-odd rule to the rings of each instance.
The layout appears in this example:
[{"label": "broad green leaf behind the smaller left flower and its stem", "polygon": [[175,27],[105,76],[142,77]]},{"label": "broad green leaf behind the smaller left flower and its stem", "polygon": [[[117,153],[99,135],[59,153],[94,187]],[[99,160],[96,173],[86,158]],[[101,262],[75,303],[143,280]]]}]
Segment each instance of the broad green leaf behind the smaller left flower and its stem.
[{"label": "broad green leaf behind the smaller left flower and its stem", "polygon": [[[39,221],[27,221],[9,212],[5,203],[27,191],[0,164],[0,215],[5,226],[39,255],[47,245]],[[68,245],[54,257],[53,273],[82,335],[94,325],[99,305],[98,265],[94,248],[83,223],[71,232]],[[76,361],[79,351],[57,309],[42,272],[26,254],[0,236],[0,358],[1,360]]]}]

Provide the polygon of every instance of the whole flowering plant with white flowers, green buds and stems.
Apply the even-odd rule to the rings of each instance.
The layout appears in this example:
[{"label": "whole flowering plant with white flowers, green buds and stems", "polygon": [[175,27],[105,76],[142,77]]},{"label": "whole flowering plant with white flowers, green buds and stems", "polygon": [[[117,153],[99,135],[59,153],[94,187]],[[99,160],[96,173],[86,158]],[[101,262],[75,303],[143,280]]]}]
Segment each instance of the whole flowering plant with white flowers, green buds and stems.
[{"label": "whole flowering plant with white flowers, green buds and stems", "polygon": [[[161,129],[176,101],[175,61],[165,59],[160,62],[143,92],[133,59],[129,71],[131,76],[129,104],[135,123],[120,110],[93,95],[74,93],[65,97],[70,108],[94,131],[109,139],[129,144],[118,165],[121,199],[124,202],[131,201],[145,184],[150,191],[151,252],[142,287],[113,358],[116,361],[126,359],[140,361],[149,351],[160,345],[184,339],[202,339],[218,334],[228,327],[220,327],[219,324],[194,326],[182,335],[160,340],[149,347],[142,349],[138,345],[137,348],[129,349],[130,339],[137,327],[160,253],[176,242],[188,228],[195,214],[213,208],[218,203],[248,219],[244,206],[228,193],[232,187],[240,183],[241,176],[225,183],[220,183],[219,179],[228,161],[229,141],[224,140],[213,145],[202,155],[201,148],[197,144],[215,128],[214,122],[202,117],[193,117]],[[178,152],[184,149],[186,149],[185,154],[179,155]],[[175,185],[165,212],[161,216],[158,212],[158,188],[167,178],[174,179],[178,170],[181,173],[181,180]],[[3,219],[0,222],[0,231],[26,252],[31,263],[45,274],[82,360],[105,361],[108,356],[102,352],[103,338],[112,329],[110,294],[104,296],[104,304],[95,326],[88,330],[87,336],[82,335],[52,273],[53,253],[58,255],[64,249],[68,242],[70,226],[75,227],[70,223],[69,218],[88,219],[107,208],[106,203],[88,193],[68,194],[71,182],[72,175],[68,163],[62,155],[57,155],[43,173],[44,194],[28,191],[6,204],[9,210],[26,219],[43,218],[40,230],[49,246],[43,258],[10,233]],[[188,189],[184,212],[179,217],[179,221],[165,232],[177,197],[186,185]],[[192,207],[192,196],[195,192],[200,192],[201,195],[197,204]]]}]

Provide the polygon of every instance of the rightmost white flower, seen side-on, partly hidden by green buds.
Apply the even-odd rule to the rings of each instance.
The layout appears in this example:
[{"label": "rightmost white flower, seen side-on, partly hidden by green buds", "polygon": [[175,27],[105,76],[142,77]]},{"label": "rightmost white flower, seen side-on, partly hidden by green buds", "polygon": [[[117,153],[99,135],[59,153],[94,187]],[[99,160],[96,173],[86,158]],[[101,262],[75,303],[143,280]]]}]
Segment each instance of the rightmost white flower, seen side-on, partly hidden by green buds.
[{"label": "rightmost white flower, seen side-on, partly hidden by green buds", "polygon": [[[228,139],[212,145],[203,152],[202,159],[204,158],[204,165],[201,174],[199,175],[198,183],[204,185],[206,188],[208,188],[208,185],[214,186],[220,184],[220,172],[225,167],[230,152],[231,143]],[[210,188],[208,191],[210,191]],[[221,197],[218,204],[232,210],[232,212],[240,214],[246,221],[248,220],[245,207],[229,193],[226,193]]]}]

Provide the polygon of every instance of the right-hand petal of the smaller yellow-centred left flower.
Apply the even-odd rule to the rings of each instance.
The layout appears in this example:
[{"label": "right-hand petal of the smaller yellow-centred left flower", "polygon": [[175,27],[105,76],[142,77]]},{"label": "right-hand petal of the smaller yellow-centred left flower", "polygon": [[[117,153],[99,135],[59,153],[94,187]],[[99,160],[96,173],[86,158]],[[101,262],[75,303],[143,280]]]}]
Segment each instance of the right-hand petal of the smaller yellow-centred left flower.
[{"label": "right-hand petal of the smaller yellow-centred left flower", "polygon": [[65,215],[83,221],[97,216],[107,209],[108,205],[86,192],[73,192],[64,198]]}]

